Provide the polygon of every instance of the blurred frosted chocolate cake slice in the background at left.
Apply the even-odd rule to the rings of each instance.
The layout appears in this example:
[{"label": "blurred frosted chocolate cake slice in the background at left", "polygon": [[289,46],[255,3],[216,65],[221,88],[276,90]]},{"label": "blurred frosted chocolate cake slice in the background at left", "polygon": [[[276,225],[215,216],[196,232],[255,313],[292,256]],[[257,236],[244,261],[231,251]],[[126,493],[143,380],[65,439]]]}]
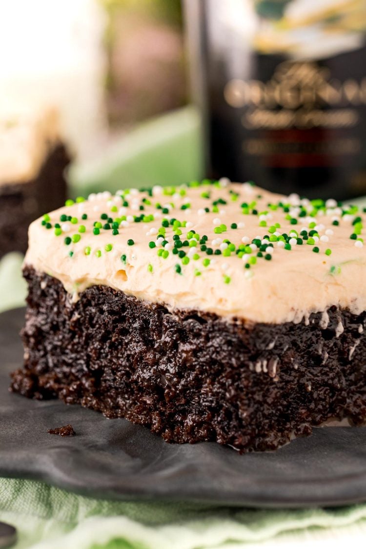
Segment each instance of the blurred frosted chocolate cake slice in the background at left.
[{"label": "blurred frosted chocolate cake slice in the background at left", "polygon": [[31,221],[64,204],[68,163],[55,110],[0,113],[0,257],[25,253]]}]

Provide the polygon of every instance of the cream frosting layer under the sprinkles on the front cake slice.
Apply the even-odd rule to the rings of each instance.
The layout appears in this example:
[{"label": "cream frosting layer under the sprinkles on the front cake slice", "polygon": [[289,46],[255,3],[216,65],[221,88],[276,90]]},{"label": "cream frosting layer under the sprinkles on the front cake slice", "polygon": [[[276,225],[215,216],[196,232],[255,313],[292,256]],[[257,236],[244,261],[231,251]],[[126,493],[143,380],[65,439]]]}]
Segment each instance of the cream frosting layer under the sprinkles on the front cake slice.
[{"label": "cream frosting layer under the sprinkles on the front cake slice", "polygon": [[[75,300],[85,288],[106,284],[139,299],[162,302],[172,310],[198,309],[224,317],[266,323],[300,322],[304,316],[308,318],[310,312],[324,311],[330,305],[348,307],[353,312],[366,309],[366,248],[363,247],[362,235],[357,236],[360,240],[350,239],[354,231],[354,215],[342,216],[334,200],[327,201],[326,211],[319,212],[316,217],[298,217],[300,199],[297,195],[286,198],[249,183],[227,184],[222,181],[220,187],[183,188],[182,193],[186,191],[184,196],[179,194],[180,190],[178,187],[168,196],[162,188],[155,187],[152,198],[147,193],[132,190],[125,197],[128,207],[123,206],[124,199],[118,193],[115,196],[100,193],[91,195],[80,204],[56,210],[49,215],[52,228],[42,226],[41,220],[31,224],[25,264],[59,279]],[[205,192],[210,193],[210,198],[201,196]],[[233,193],[238,195],[236,200],[232,200]],[[143,197],[152,204],[139,211]],[[217,199],[227,203],[218,204],[219,211],[213,212],[212,203]],[[275,211],[269,208],[268,204],[277,204],[280,200],[289,204],[289,213],[283,208]],[[243,214],[241,204],[252,201],[256,201],[252,208],[258,215]],[[169,208],[169,213],[165,215],[157,210],[157,202]],[[313,210],[308,200],[302,200],[301,204],[309,213]],[[111,212],[111,208],[117,212]],[[210,212],[205,212],[204,208],[209,208]],[[261,214],[263,211],[267,214]],[[100,215],[104,212],[112,218],[127,216],[127,220],[121,222],[119,234],[113,236],[110,229],[103,228],[100,234],[93,234],[93,222],[101,221]],[[77,223],[61,222],[62,214],[76,217]],[[86,221],[81,220],[82,214],[87,214]],[[133,216],[140,214],[153,214],[155,219],[133,222]],[[298,217],[297,225],[291,225],[285,219],[286,215],[293,219]],[[280,224],[278,232],[274,233],[279,236],[290,234],[293,229],[298,233],[303,228],[309,231],[309,224],[315,222],[314,230],[319,235],[315,240],[319,239],[319,242],[300,245],[292,240],[291,250],[284,249],[284,244],[278,242],[273,242],[271,250],[264,242],[268,249],[263,251],[263,255],[272,251],[272,260],[257,257],[256,264],[250,268],[245,265],[258,250],[241,258],[235,253],[228,257],[207,255],[200,250],[198,243],[196,247],[180,248],[190,257],[189,264],[183,265],[182,259],[172,253],[174,233],[171,226],[166,228],[168,244],[164,248],[169,251],[168,257],[164,259],[157,255],[159,247],[149,248],[149,242],[159,242],[156,232],[165,218],[187,221],[186,227],[181,227],[181,239],[185,239],[188,231],[196,232],[200,237],[206,235],[206,244],[213,250],[225,247],[223,239],[229,239],[237,248],[243,242],[250,244],[254,238],[263,239],[270,234],[269,227],[275,223]],[[334,226],[333,221],[339,221],[339,226]],[[63,234],[60,236],[54,234],[54,223],[61,225]],[[236,223],[238,228],[230,228],[232,223]],[[261,226],[264,223],[267,227]],[[85,225],[86,231],[78,233],[81,224]],[[215,227],[222,224],[227,226],[227,231],[216,234]],[[66,245],[65,237],[74,234],[80,234],[81,239]],[[134,244],[128,245],[128,239],[133,239]],[[108,244],[112,244],[110,251],[105,250]],[[315,246],[319,253],[314,253]],[[88,247],[90,253],[86,255]],[[331,250],[331,255],[325,254],[326,249]],[[73,252],[71,257],[70,251]],[[195,254],[199,259],[194,259]],[[126,264],[121,261],[123,255]],[[204,266],[204,259],[210,259],[209,266]],[[176,272],[176,265],[179,265],[180,273]]]}]

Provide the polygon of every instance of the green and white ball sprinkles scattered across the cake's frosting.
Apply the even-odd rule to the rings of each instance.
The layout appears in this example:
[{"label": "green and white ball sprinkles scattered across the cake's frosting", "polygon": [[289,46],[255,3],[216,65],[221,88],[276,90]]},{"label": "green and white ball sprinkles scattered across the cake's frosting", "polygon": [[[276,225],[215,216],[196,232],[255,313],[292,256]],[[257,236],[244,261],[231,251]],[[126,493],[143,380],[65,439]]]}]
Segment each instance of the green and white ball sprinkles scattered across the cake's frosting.
[{"label": "green and white ball sprinkles scattered across the cake's frosting", "polygon": [[[41,223],[46,230],[52,230],[55,237],[63,238],[67,254],[74,260],[76,251],[100,258],[114,250],[116,243],[121,249],[123,243],[125,251],[120,256],[123,265],[128,262],[128,250],[135,245],[134,239],[125,239],[124,229],[133,223],[142,223],[147,227],[146,240],[138,244],[145,245],[161,260],[173,258],[171,268],[177,275],[182,276],[187,269],[193,268],[194,276],[199,277],[219,259],[224,284],[232,281],[227,263],[229,257],[241,260],[244,276],[250,278],[258,261],[280,257],[283,252],[279,253],[277,249],[290,253],[299,246],[306,246],[313,253],[330,256],[331,239],[340,224],[348,224],[350,242],[354,241],[357,248],[363,247],[362,214],[365,209],[361,211],[357,206],[333,199],[308,200],[296,194],[263,203],[261,190],[253,183],[244,183],[241,189],[243,192],[223,179],[142,191],[125,189],[114,196],[108,192],[91,194],[88,202],[95,203],[93,219],[88,219],[85,212],[85,199],[78,197],[75,200],[77,208],[72,208],[74,215],[63,213],[59,219],[51,220],[50,215],[45,214]],[[105,211],[100,211],[100,199],[103,199]],[[65,205],[74,206],[75,203],[67,200]],[[196,203],[199,203],[198,209]],[[231,203],[235,203],[235,208],[230,207],[232,219],[227,219],[226,208]],[[194,219],[210,215],[210,231],[197,232],[192,213]],[[258,227],[255,238],[245,234],[249,217],[251,224],[254,219]],[[274,222],[274,217],[280,221]],[[110,242],[103,247],[98,247],[100,234],[110,236]],[[82,247],[79,244],[76,248],[78,243]],[[147,265],[147,271],[154,273],[152,262]],[[334,272],[335,268],[331,266],[330,273]]]}]

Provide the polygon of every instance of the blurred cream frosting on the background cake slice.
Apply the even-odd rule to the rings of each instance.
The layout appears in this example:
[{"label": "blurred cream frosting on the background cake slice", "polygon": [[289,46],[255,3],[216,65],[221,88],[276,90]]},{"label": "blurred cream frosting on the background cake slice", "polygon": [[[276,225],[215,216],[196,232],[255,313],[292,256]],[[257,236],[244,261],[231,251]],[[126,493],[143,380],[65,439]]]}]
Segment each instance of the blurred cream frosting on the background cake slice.
[{"label": "blurred cream frosting on the background cake slice", "polygon": [[55,109],[0,111],[0,185],[24,183],[36,177],[58,140]]}]

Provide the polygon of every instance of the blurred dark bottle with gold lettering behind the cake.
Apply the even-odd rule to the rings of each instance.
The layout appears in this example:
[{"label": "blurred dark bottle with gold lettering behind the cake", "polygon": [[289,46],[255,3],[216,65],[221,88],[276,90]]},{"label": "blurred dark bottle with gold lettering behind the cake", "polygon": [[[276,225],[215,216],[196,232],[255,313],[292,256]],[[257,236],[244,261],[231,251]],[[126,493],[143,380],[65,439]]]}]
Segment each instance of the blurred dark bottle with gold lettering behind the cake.
[{"label": "blurred dark bottle with gold lettering behind the cake", "polygon": [[211,177],[366,194],[366,1],[185,0]]}]

